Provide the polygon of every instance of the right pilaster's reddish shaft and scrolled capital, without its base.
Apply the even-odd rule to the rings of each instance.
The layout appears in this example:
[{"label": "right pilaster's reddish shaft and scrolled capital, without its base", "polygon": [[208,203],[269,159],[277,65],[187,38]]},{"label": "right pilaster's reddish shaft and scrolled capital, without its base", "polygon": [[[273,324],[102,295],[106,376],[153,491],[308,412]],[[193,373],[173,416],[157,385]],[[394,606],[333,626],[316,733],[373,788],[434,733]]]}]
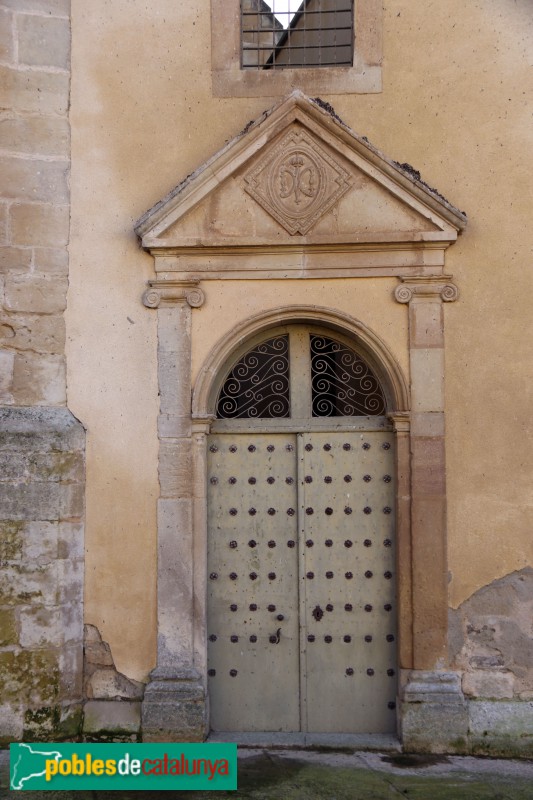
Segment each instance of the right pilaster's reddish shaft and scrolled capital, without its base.
[{"label": "right pilaster's reddish shaft and scrolled capital, without its base", "polygon": [[443,302],[457,299],[449,276],[402,278],[409,304],[411,371],[411,547],[415,669],[447,663],[446,481]]}]

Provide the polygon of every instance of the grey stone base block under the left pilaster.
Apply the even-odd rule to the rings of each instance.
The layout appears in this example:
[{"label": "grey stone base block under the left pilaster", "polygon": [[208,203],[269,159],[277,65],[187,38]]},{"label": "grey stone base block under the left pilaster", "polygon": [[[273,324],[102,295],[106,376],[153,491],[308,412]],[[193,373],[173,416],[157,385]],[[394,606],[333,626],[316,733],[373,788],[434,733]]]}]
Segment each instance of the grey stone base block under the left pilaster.
[{"label": "grey stone base block under the left pilaster", "polygon": [[155,669],[142,703],[143,742],[202,742],[207,735],[205,690],[195,670]]}]

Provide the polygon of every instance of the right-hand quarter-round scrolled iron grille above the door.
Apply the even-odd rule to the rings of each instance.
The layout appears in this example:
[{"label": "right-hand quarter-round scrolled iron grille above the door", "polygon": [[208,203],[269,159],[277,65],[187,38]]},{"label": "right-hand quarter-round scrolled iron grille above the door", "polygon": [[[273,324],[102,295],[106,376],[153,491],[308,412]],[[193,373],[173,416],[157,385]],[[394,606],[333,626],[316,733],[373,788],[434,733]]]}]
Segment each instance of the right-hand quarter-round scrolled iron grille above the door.
[{"label": "right-hand quarter-round scrolled iron grille above the door", "polygon": [[383,390],[370,367],[325,336],[311,335],[311,394],[313,417],[385,414]]}]

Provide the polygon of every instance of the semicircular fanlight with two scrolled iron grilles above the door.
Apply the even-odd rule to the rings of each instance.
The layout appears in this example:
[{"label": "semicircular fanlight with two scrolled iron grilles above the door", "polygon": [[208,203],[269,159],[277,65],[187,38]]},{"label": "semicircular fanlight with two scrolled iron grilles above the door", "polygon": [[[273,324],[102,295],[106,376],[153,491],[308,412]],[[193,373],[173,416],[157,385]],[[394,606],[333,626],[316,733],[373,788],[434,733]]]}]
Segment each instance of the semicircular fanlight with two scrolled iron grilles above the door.
[{"label": "semicircular fanlight with two scrolled iron grilles above the door", "polygon": [[[293,370],[291,375],[289,342],[289,335],[267,339],[234,364],[218,396],[219,419],[290,417],[291,382],[293,391],[310,394],[312,417],[385,414],[385,395],[379,380],[351,347],[311,333],[306,345],[307,369],[298,375]],[[299,365],[296,369],[301,370],[301,360],[295,363]]]}]

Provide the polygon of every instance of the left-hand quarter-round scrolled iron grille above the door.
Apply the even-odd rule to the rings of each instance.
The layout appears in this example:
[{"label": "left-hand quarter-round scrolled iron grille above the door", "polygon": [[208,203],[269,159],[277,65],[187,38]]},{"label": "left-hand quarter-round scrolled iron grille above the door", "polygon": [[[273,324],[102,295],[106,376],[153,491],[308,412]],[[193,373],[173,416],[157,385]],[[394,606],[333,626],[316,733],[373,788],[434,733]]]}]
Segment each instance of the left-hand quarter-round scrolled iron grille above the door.
[{"label": "left-hand quarter-round scrolled iron grille above the door", "polygon": [[276,336],[235,364],[217,401],[219,419],[288,417],[289,337]]}]

